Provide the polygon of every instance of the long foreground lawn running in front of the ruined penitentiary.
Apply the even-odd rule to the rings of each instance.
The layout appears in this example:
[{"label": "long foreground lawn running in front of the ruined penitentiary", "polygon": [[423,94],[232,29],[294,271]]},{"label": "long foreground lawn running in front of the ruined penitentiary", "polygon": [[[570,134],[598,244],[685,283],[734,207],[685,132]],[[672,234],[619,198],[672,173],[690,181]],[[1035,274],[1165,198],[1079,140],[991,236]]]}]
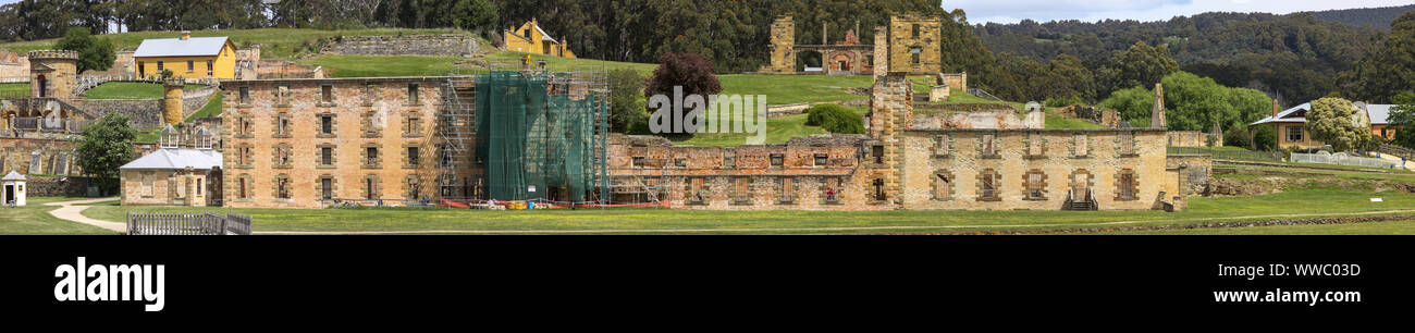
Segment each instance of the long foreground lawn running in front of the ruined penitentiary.
[{"label": "long foreground lawn running in front of the ruined penitentiary", "polygon": [[[1385,203],[1370,203],[1382,197]],[[708,234],[831,234],[979,231],[1019,228],[1085,228],[1167,225],[1240,220],[1332,217],[1350,213],[1374,215],[1415,207],[1415,196],[1358,193],[1312,187],[1262,197],[1190,198],[1190,210],[1162,211],[676,211],[649,208],[474,211],[443,208],[192,208],[100,205],[85,215],[122,221],[127,211],[238,211],[256,218],[256,231],[604,231]],[[1111,224],[1104,224],[1111,222]],[[794,230],[808,228],[808,230]],[[818,230],[833,228],[833,230]]]}]

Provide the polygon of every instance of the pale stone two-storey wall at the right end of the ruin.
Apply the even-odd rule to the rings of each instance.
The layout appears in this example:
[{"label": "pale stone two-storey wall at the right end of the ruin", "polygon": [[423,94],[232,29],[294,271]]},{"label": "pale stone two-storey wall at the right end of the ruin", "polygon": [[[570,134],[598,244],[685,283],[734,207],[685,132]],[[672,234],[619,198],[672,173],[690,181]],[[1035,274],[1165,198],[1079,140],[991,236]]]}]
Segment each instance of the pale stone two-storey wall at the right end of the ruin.
[{"label": "pale stone two-storey wall at the right end of the ruin", "polygon": [[[1061,210],[1073,188],[1088,188],[1099,210],[1152,210],[1180,196],[1163,137],[1160,130],[908,130],[900,197],[910,210]],[[993,153],[983,149],[988,140]],[[1131,197],[1119,183],[1126,173],[1135,180]],[[993,197],[982,196],[985,176],[993,177]],[[1041,196],[1030,196],[1029,184]]]}]

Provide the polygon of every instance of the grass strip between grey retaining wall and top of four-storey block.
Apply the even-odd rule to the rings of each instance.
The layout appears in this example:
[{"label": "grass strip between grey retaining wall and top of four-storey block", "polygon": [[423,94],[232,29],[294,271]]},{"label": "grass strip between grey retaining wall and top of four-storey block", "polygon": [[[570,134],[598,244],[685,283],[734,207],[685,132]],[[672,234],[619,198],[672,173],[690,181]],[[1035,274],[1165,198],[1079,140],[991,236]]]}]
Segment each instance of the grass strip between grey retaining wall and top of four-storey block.
[{"label": "grass strip between grey retaining wall and top of four-storey block", "polygon": [[417,55],[321,55],[300,61],[301,64],[324,67],[331,78],[372,77],[437,77],[453,72],[456,57]]}]

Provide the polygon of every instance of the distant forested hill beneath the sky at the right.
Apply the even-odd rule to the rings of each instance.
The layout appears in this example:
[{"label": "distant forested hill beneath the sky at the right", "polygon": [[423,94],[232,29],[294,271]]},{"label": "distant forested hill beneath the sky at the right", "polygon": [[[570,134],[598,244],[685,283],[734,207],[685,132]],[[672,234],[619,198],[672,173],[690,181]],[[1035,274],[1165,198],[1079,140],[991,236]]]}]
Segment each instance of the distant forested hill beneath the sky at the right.
[{"label": "distant forested hill beneath the sky at the right", "polygon": [[989,50],[1041,61],[1071,54],[1088,67],[1136,41],[1166,45],[1182,69],[1223,85],[1255,88],[1282,102],[1337,91],[1336,77],[1365,57],[1377,31],[1312,13],[1204,13],[1167,21],[989,23],[975,33]]}]

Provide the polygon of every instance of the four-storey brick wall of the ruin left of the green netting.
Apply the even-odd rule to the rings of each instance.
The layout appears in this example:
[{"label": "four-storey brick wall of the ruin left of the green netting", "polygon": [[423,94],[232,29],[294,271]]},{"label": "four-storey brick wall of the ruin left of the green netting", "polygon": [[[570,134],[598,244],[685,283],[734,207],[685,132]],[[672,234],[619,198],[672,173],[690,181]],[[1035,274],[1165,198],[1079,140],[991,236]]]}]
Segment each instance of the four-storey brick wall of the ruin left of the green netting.
[{"label": "four-storey brick wall of the ruin left of the green netting", "polygon": [[[327,203],[323,179],[330,180],[333,198],[340,200],[374,197],[399,205],[409,197],[410,179],[419,184],[419,197],[436,198],[441,142],[434,129],[444,84],[434,78],[224,82],[225,205],[320,208]],[[409,95],[410,85],[416,85],[416,101]],[[331,89],[328,102],[323,101],[323,86]],[[246,101],[241,98],[243,89]],[[331,133],[323,133],[323,118],[330,119]],[[284,135],[279,132],[282,123],[289,130]],[[409,147],[417,147],[416,160],[409,160]],[[324,149],[330,149],[333,164],[324,164]],[[368,154],[369,149],[375,156]],[[282,183],[289,186],[287,198],[279,197]],[[369,183],[372,193],[366,191]]]}]

